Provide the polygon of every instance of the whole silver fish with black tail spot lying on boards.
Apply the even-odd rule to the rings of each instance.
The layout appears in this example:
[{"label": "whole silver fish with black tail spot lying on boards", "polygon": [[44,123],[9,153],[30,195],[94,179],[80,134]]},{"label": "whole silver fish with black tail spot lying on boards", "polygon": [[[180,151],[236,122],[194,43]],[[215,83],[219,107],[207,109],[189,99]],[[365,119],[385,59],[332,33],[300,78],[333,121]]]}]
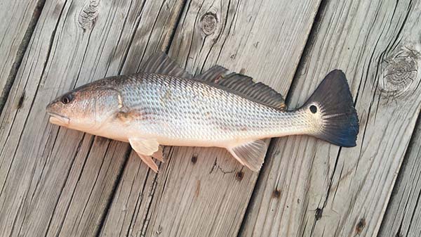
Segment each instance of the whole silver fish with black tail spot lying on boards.
[{"label": "whole silver fish with black tail spot lying on boards", "polygon": [[215,65],[200,75],[154,53],[142,71],[106,77],[58,96],[49,122],[130,143],[154,172],[162,146],[225,148],[254,172],[265,160],[265,139],[309,135],[356,146],[359,118],[344,72],[326,75],[314,94],[288,110],[281,94],[253,78]]}]

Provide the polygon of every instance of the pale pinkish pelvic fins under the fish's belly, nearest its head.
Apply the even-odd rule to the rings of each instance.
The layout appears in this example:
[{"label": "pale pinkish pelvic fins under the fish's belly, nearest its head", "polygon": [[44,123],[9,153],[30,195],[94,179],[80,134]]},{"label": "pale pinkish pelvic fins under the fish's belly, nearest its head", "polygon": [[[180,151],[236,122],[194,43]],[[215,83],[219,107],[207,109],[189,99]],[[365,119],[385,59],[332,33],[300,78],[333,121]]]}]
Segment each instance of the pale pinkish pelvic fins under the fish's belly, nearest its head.
[{"label": "pale pinkish pelvic fins under the fish's belly, nearest its head", "polygon": [[146,163],[149,168],[158,172],[158,166],[152,160],[152,155],[159,152],[159,143],[156,139],[131,138],[128,139],[131,147],[138,153],[140,159]]}]

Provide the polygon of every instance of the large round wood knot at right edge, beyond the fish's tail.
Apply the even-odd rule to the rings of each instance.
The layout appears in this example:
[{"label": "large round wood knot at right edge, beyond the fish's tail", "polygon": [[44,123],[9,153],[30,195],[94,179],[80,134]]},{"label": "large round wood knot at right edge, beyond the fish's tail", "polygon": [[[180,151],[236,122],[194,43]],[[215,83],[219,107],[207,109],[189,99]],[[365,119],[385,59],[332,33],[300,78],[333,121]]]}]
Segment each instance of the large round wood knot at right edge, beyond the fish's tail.
[{"label": "large round wood knot at right edge, beyond the fish's tail", "polygon": [[380,91],[387,97],[398,98],[413,92],[420,82],[417,78],[417,56],[401,51],[382,62],[383,73],[379,79]]}]

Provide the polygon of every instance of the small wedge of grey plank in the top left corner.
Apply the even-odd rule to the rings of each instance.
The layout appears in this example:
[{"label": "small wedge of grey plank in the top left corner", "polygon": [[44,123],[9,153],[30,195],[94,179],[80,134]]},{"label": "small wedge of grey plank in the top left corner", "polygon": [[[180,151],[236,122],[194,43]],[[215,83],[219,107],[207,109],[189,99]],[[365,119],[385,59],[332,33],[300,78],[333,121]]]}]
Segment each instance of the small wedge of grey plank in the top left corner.
[{"label": "small wedge of grey plank in the top left corner", "polygon": [[0,112],[44,1],[0,2]]}]

